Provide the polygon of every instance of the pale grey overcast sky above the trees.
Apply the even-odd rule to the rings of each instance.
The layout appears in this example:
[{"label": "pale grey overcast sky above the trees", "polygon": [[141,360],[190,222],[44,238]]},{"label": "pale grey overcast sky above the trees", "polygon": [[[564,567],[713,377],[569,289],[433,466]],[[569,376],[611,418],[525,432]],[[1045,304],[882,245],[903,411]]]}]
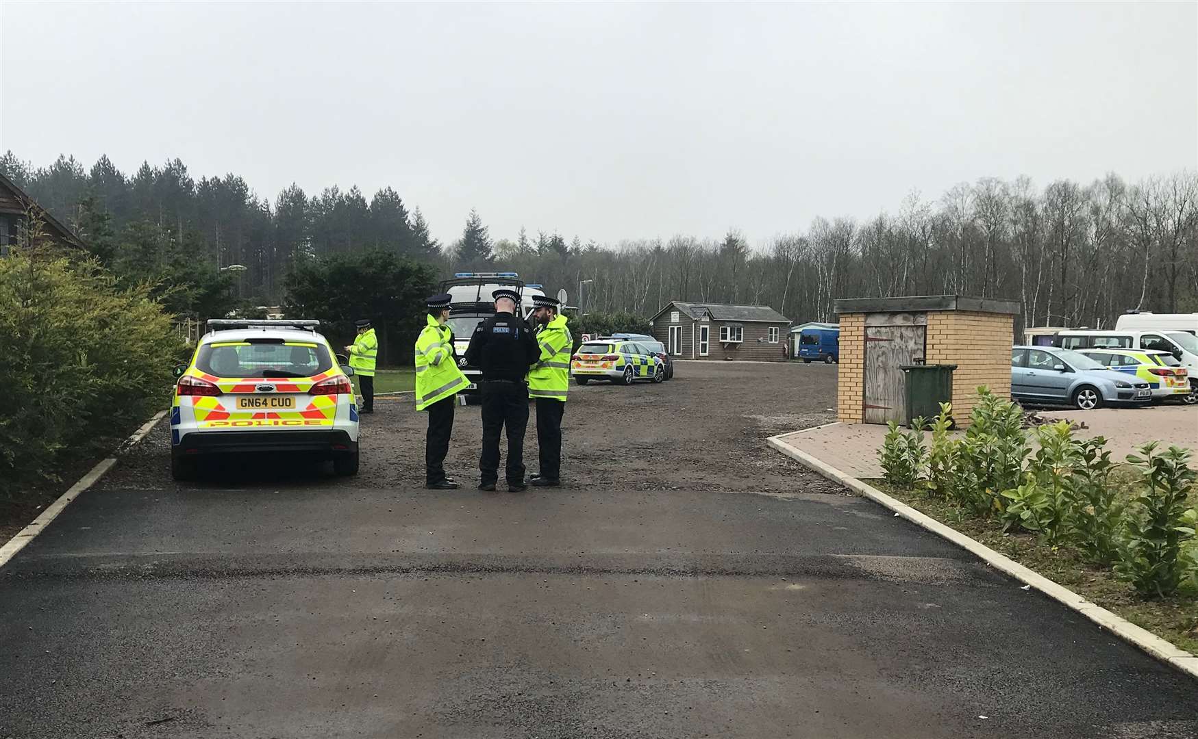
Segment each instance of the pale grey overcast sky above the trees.
[{"label": "pale grey overcast sky above the trees", "polygon": [[0,149],[755,244],[913,188],[1198,165],[1198,4],[0,2]]}]

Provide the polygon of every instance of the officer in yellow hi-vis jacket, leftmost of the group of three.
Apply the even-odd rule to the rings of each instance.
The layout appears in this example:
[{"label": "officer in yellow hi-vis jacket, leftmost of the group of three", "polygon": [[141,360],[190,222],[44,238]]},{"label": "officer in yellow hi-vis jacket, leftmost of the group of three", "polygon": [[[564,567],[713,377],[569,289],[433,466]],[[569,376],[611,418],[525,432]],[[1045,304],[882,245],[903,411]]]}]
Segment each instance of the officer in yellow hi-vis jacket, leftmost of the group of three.
[{"label": "officer in yellow hi-vis jacket, leftmost of the group of three", "polygon": [[434,295],[426,303],[429,316],[416,339],[416,410],[429,412],[429,431],[424,436],[424,486],[429,490],[456,490],[458,483],[446,475],[444,461],[453,431],[453,406],[458,393],[470,380],[458,369],[453,351],[448,293]]}]

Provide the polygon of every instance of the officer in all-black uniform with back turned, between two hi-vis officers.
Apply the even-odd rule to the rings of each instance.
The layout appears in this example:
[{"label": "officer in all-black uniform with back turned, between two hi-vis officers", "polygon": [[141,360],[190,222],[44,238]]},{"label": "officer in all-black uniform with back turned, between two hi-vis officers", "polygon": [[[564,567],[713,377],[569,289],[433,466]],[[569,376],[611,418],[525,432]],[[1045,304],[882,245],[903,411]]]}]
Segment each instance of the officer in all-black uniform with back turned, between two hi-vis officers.
[{"label": "officer in all-black uniform with back turned, between two hi-vis officers", "polygon": [[508,490],[527,487],[524,479],[524,434],[528,425],[528,386],[525,374],[540,358],[537,339],[516,314],[520,293],[496,290],[495,315],[474,328],[466,363],[482,368],[483,452],[478,458],[479,490],[495,490],[500,477],[500,432],[508,432]]}]

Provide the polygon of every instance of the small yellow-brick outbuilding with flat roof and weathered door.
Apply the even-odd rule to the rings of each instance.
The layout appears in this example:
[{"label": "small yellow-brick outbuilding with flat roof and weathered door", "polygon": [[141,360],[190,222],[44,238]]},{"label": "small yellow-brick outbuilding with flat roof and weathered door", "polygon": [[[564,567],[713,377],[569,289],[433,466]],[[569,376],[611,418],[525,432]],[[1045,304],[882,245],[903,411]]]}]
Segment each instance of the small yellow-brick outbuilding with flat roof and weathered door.
[{"label": "small yellow-brick outbuilding with flat roof and weathered door", "polygon": [[1019,304],[957,295],[836,301],[841,423],[906,420],[902,365],[955,364],[952,416],[969,422],[979,386],[1011,395],[1011,346]]}]

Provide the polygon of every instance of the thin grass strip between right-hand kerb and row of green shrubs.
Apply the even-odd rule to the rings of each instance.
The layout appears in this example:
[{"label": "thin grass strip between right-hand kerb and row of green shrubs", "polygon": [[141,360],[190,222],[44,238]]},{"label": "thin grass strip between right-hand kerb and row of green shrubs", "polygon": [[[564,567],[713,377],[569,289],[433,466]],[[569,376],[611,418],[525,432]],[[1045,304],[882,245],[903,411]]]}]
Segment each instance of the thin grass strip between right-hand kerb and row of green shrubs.
[{"label": "thin grass strip between right-hand kerb and row of green shrubs", "polygon": [[[1135,478],[1135,472],[1126,468],[1117,474],[1127,480]],[[1140,600],[1129,583],[1117,580],[1109,569],[1087,564],[1072,546],[1051,546],[1041,543],[1035,534],[1003,533],[1002,525],[994,519],[973,517],[948,502],[888,485],[884,480],[866,481],[1137,626],[1198,654],[1198,592],[1192,588],[1163,600]]]}]

